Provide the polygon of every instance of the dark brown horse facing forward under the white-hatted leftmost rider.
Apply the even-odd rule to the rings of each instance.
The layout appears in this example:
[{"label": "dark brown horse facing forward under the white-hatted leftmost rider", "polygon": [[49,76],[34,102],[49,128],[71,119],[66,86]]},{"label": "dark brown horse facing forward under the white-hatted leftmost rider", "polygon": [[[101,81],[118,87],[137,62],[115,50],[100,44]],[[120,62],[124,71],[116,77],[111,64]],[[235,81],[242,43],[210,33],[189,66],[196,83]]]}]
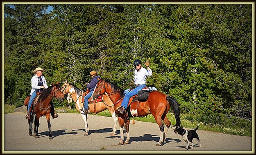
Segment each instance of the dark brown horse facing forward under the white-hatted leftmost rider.
[{"label": "dark brown horse facing forward under the white-hatted leftmost rider", "polygon": [[41,116],[45,116],[47,123],[48,123],[48,129],[49,129],[49,140],[52,140],[52,133],[51,133],[51,111],[52,111],[52,105],[50,104],[52,98],[57,98],[61,101],[64,100],[64,95],[61,93],[61,86],[59,84],[52,84],[52,86],[45,89],[41,94],[36,96],[32,103],[32,111],[33,114],[28,120],[29,124],[29,135],[32,136],[32,124],[34,122],[34,137],[38,137],[38,128],[39,128],[39,118]]}]

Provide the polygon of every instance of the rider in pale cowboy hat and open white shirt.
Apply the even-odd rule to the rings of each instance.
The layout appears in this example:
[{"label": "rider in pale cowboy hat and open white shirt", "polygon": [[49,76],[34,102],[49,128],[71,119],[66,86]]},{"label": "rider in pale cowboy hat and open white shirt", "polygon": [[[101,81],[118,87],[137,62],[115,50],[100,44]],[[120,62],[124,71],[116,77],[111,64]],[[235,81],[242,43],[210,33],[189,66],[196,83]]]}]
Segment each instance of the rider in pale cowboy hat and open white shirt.
[{"label": "rider in pale cowboy hat and open white shirt", "polygon": [[[44,89],[47,89],[47,82],[45,80],[45,77],[42,75],[43,71],[45,71],[44,69],[42,69],[41,67],[37,67],[33,73],[35,74],[32,78],[31,78],[31,91],[30,91],[30,99],[29,99],[29,103],[27,106],[27,115],[26,115],[26,119],[30,118],[30,112],[29,109],[32,105],[33,100],[36,98],[37,94],[39,92],[42,92]],[[52,105],[52,111],[51,111],[51,115],[52,118],[57,118],[59,115],[57,113],[55,113],[54,111],[54,106],[53,103],[51,101],[51,105]]]}]

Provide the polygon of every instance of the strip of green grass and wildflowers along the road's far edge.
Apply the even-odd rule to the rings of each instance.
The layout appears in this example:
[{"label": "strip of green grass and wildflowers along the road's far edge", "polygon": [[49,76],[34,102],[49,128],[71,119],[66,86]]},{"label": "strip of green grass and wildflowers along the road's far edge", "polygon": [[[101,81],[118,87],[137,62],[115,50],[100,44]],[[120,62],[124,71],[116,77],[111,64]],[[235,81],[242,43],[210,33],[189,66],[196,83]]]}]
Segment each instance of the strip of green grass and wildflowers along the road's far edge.
[{"label": "strip of green grass and wildflowers along the road's far edge", "polygon": [[[14,109],[15,106],[5,104],[5,113],[13,113]],[[67,113],[79,113],[76,109],[55,107],[55,111],[58,109],[66,109]],[[96,115],[111,117],[109,110],[102,111],[101,113],[97,113]],[[173,113],[169,112],[167,114],[167,117],[172,123],[172,125],[176,124],[176,120]],[[214,118],[208,118],[208,122],[213,122],[213,119]],[[147,115],[145,117],[134,117],[131,118],[131,120],[156,123],[152,115]],[[213,131],[219,133],[243,135],[250,137],[252,136],[252,123],[245,120],[232,120],[231,118],[226,118],[222,120],[222,124],[214,124],[208,122],[206,121],[206,118],[201,115],[192,115],[189,113],[181,114],[181,124],[184,128],[196,128],[197,124],[199,124],[199,129],[204,131]]]}]

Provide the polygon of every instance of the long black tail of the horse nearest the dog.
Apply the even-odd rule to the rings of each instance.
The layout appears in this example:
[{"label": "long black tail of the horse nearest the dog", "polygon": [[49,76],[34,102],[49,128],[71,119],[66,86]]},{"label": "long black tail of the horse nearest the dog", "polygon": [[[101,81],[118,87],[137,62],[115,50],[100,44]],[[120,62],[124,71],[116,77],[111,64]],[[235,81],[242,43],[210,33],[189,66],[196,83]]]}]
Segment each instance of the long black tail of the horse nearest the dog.
[{"label": "long black tail of the horse nearest the dog", "polygon": [[181,126],[181,119],[180,119],[180,108],[179,108],[179,104],[178,101],[175,100],[173,97],[171,96],[166,96],[166,99],[168,100],[170,106],[172,107],[173,111],[174,111],[174,116],[176,119],[176,128],[179,128]]}]

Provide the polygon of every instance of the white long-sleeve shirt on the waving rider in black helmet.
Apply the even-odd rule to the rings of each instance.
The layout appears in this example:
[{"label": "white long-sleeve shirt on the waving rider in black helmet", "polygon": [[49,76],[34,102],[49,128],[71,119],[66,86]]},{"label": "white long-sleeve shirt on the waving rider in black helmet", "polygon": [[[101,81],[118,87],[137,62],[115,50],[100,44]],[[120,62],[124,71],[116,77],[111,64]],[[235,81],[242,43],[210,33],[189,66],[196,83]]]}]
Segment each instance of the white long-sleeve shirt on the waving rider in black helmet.
[{"label": "white long-sleeve shirt on the waving rider in black helmet", "polygon": [[136,85],[146,84],[147,76],[151,76],[151,75],[152,75],[151,69],[145,69],[143,67],[141,67],[140,71],[137,71],[137,69],[135,69],[134,84]]}]

